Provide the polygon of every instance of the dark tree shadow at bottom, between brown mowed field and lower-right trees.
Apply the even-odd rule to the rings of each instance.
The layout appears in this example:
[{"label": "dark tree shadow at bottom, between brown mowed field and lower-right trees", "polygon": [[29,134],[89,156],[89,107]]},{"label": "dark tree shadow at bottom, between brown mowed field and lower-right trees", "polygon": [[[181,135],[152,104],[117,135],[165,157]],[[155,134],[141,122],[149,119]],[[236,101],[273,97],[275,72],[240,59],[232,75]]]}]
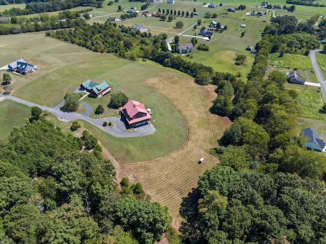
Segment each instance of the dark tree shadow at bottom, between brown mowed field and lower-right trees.
[{"label": "dark tree shadow at bottom, between brown mowed field and lower-right trees", "polygon": [[198,188],[193,188],[187,197],[182,199],[179,213],[184,221],[181,222],[179,231],[184,236],[184,242],[190,243],[191,240],[199,239],[200,232],[198,230]]}]

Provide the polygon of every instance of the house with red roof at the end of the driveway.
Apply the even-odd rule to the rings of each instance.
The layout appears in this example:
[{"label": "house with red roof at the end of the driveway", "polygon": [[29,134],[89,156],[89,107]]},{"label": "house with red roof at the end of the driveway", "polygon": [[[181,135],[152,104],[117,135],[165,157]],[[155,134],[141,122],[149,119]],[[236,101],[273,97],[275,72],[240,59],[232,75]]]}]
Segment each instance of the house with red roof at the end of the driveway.
[{"label": "house with red roof at the end of the driveway", "polygon": [[145,109],[144,103],[130,100],[121,109],[122,116],[126,119],[129,128],[135,128],[148,124],[151,116]]}]

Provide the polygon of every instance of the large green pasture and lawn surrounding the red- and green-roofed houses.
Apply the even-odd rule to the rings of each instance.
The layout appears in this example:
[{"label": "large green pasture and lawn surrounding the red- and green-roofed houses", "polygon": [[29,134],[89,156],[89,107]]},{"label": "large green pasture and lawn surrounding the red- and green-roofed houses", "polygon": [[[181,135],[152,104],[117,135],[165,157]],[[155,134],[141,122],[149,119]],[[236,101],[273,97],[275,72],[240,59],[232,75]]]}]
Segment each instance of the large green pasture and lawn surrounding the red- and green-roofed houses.
[{"label": "large green pasture and lawn surrounding the red- and green-roofed houses", "polygon": [[[73,92],[87,79],[96,83],[106,80],[114,92],[123,91],[130,99],[144,102],[153,111],[152,123],[156,128],[156,132],[148,137],[120,139],[88,125],[87,128],[95,133],[114,157],[122,162],[149,160],[176,150],[184,142],[187,126],[181,114],[164,96],[142,86],[147,79],[160,72],[173,70],[151,61],[131,62],[107,53],[92,52],[45,37],[44,33],[20,34],[15,37],[17,38],[5,36],[3,40],[6,44],[0,45],[2,65],[24,58],[25,61],[36,64],[38,70],[28,75],[11,73],[14,96],[53,106],[63,101],[65,93]],[[14,48],[17,45],[24,48]],[[4,72],[1,71],[0,75]],[[185,75],[178,73],[181,77]],[[107,112],[109,100],[110,94],[99,99],[87,97],[84,101],[89,102],[94,111],[101,104],[107,115],[117,116],[116,110]],[[27,111],[29,114],[30,109]],[[9,117],[5,112],[0,114]],[[22,116],[21,122],[25,118],[26,115]]]}]

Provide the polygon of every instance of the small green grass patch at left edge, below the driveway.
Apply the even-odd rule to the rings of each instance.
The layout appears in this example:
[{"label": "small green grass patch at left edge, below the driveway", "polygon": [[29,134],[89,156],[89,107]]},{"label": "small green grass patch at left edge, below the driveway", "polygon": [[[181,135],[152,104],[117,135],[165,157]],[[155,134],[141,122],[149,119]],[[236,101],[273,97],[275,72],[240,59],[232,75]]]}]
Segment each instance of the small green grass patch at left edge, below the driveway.
[{"label": "small green grass patch at left edge, below the driveway", "polygon": [[31,118],[31,107],[11,100],[0,101],[0,138],[10,135],[13,126],[26,125],[25,119]]}]

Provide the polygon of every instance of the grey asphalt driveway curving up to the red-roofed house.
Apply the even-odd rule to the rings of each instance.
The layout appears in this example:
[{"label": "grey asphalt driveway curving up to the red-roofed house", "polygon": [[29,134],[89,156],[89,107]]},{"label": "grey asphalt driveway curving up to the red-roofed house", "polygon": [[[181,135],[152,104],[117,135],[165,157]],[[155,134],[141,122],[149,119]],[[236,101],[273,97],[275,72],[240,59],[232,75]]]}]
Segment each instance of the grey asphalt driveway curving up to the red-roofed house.
[{"label": "grey asphalt driveway curving up to the red-roofed house", "polygon": [[[68,122],[68,121],[72,121],[72,120],[84,120],[94,126],[96,126],[97,128],[111,134],[114,135],[115,137],[122,137],[122,138],[128,138],[128,137],[143,137],[144,135],[148,135],[148,134],[152,134],[155,132],[155,128],[152,124],[148,124],[148,125],[144,125],[138,128],[135,128],[133,132],[128,132],[126,131],[126,127],[124,125],[124,122],[121,121],[121,118],[119,117],[107,117],[107,118],[101,118],[101,119],[91,119],[88,116],[92,113],[92,107],[85,103],[85,102],[81,102],[82,105],[86,106],[87,108],[87,113],[85,115],[81,115],[81,114],[77,114],[77,113],[71,113],[71,112],[63,112],[60,111],[60,107],[56,106],[56,107],[46,107],[46,106],[42,106],[33,102],[29,102],[14,96],[10,96],[10,95],[5,95],[2,94],[2,96],[6,99],[10,99],[25,105],[28,105],[30,107],[32,106],[38,106],[41,110],[45,111],[49,111],[50,113],[56,115],[60,121],[63,122]],[[109,127],[109,126],[103,126],[103,122],[112,122],[114,124],[113,127]]]}]

